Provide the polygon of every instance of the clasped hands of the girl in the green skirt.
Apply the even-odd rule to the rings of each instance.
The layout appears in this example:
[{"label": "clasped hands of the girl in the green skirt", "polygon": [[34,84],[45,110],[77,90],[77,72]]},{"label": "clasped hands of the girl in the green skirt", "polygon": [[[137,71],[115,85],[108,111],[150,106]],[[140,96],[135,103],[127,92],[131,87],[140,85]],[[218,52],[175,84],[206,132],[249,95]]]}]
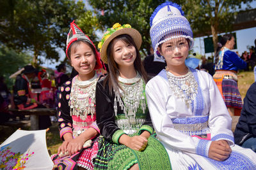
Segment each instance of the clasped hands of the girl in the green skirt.
[{"label": "clasped hands of the girl in the green skirt", "polygon": [[148,144],[148,140],[143,136],[133,136],[128,138],[125,146],[132,150],[143,151]]}]

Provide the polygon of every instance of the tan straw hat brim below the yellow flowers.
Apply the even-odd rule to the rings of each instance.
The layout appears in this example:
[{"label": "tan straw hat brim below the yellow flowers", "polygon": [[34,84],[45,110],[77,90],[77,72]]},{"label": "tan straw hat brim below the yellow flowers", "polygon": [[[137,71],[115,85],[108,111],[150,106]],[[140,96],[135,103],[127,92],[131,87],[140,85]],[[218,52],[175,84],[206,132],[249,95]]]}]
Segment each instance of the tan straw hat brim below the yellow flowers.
[{"label": "tan straw hat brim below the yellow flowers", "polygon": [[122,34],[128,34],[129,36],[131,36],[131,38],[133,39],[138,50],[140,49],[140,46],[142,43],[142,38],[141,38],[141,34],[139,31],[137,31],[136,29],[132,29],[132,28],[119,29],[119,30],[115,31],[113,34],[111,34],[111,36],[109,36],[109,38],[106,39],[106,41],[102,45],[102,48],[100,50],[100,58],[105,64],[108,64],[107,48],[108,48],[109,43],[114,38],[116,38],[116,36],[119,36]]}]

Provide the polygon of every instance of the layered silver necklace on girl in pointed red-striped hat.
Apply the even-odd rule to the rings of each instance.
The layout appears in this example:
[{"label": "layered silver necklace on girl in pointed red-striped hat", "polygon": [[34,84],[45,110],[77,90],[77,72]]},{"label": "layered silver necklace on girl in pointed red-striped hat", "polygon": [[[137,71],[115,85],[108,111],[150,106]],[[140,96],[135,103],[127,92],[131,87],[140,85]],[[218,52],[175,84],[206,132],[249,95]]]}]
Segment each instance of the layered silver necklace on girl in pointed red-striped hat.
[{"label": "layered silver necklace on girl in pointed red-striped hat", "polygon": [[72,81],[70,92],[70,115],[80,116],[82,120],[87,118],[88,114],[91,117],[95,115],[95,89],[97,83],[97,74],[90,80],[80,81],[77,76]]}]

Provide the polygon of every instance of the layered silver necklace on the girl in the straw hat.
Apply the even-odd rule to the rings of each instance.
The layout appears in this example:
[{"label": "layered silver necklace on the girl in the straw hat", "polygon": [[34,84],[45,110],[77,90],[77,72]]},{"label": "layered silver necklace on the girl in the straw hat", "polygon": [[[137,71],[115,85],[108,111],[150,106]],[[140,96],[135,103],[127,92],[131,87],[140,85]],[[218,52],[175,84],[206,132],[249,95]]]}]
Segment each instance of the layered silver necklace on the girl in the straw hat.
[{"label": "layered silver necklace on the girl in the straw hat", "polygon": [[[146,110],[146,100],[143,94],[143,80],[140,74],[137,73],[134,78],[122,78],[118,76],[118,83],[122,89],[115,92],[114,111],[117,116],[117,102],[124,111],[125,118],[129,119],[131,124],[136,124],[136,112],[141,108],[143,113]],[[124,101],[124,103],[123,103]]]}]

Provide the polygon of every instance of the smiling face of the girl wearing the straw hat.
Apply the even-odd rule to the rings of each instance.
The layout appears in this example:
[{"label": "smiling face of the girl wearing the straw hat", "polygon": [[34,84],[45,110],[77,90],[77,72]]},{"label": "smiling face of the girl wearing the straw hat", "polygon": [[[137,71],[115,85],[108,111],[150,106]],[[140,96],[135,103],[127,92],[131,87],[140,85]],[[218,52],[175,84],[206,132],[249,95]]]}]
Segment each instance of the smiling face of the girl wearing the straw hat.
[{"label": "smiling face of the girl wearing the straw hat", "polygon": [[113,59],[118,67],[133,67],[134,60],[136,59],[135,46],[125,43],[121,39],[113,40]]}]

